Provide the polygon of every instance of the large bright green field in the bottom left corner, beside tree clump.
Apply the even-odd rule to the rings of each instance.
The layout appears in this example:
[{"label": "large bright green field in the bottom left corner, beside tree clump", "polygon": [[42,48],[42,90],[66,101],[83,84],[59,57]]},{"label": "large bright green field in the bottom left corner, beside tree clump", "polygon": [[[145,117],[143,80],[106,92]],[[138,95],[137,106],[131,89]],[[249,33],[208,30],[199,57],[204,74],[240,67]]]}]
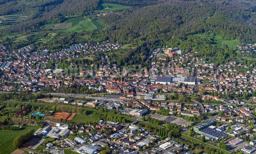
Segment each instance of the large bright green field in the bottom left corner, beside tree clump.
[{"label": "large bright green field in the bottom left corner, beside tree clump", "polygon": [[17,136],[27,132],[30,128],[34,128],[36,131],[39,127],[38,126],[32,126],[32,125],[26,125],[23,127],[22,130],[19,131],[3,131],[0,130],[0,154],[5,153],[11,153],[15,149],[13,148],[13,140]]}]

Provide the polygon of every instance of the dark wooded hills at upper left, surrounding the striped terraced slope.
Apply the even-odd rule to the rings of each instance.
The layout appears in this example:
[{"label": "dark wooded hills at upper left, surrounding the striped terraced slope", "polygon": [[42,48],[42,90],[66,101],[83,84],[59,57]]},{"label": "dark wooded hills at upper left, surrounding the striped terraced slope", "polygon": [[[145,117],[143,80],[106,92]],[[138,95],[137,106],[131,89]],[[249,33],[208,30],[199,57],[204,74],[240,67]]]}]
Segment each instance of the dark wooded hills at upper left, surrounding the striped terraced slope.
[{"label": "dark wooded hills at upper left, surrounding the striped terraced slope", "polygon": [[0,16],[28,16],[26,21],[5,28],[7,33],[35,31],[44,24],[60,23],[65,16],[86,16],[100,9],[100,0],[0,0],[0,4]]}]

